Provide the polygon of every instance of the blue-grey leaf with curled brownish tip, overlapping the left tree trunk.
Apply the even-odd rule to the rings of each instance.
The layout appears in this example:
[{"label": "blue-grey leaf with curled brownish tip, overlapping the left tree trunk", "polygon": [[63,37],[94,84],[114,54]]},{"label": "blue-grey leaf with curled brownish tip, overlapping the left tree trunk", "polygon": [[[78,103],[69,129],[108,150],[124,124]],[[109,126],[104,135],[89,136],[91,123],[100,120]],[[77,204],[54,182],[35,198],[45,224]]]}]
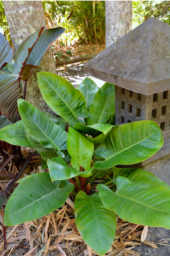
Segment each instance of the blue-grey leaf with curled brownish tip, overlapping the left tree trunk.
[{"label": "blue-grey leaf with curled brownish tip, overlapping the left tree trunk", "polygon": [[42,35],[40,35],[38,41],[36,42],[35,47],[33,47],[33,50],[31,51],[27,59],[26,66],[40,65],[43,54],[45,54],[47,49],[49,49],[50,45],[52,45],[53,42],[56,41],[63,32],[65,32],[64,28],[45,29]]}]

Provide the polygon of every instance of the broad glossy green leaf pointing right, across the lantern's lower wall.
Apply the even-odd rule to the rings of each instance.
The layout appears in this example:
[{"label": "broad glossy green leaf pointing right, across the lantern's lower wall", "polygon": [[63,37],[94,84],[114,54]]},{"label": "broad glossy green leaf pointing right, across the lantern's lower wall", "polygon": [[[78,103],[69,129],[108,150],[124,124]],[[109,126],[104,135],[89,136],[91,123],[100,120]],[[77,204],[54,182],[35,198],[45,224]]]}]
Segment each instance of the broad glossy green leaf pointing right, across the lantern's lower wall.
[{"label": "broad glossy green leaf pointing right, across the lantern's lower wall", "polygon": [[137,121],[112,129],[95,150],[96,169],[109,169],[117,164],[135,164],[153,156],[163,145],[162,132],[153,121]]}]

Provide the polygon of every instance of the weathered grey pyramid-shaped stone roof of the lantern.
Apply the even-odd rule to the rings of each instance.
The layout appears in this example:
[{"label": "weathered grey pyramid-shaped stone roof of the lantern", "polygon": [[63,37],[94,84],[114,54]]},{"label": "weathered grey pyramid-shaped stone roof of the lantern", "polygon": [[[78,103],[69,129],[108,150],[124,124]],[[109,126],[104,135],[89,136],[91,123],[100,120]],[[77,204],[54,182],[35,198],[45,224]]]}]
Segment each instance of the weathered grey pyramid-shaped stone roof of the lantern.
[{"label": "weathered grey pyramid-shaped stone roof of the lantern", "polygon": [[84,65],[84,73],[143,95],[170,88],[170,26],[152,17]]}]

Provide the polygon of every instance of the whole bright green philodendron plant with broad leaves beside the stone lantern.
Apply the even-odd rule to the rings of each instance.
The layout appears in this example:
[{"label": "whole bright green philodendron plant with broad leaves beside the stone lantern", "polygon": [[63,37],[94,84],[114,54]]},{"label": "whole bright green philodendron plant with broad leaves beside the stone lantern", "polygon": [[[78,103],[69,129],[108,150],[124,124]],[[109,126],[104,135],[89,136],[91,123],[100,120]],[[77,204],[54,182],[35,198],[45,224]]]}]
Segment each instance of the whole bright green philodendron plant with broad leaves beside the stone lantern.
[{"label": "whole bright green philodendron plant with broad leaves beside the stone lantern", "polygon": [[[0,140],[35,148],[49,172],[19,180],[6,204],[4,225],[49,214],[74,189],[75,223],[99,255],[111,247],[116,214],[132,223],[170,228],[170,187],[146,170],[117,167],[144,161],[162,147],[158,124],[146,120],[114,125],[113,84],[98,89],[86,78],[75,89],[47,72],[38,73],[38,84],[45,102],[61,118],[19,99],[22,120],[1,129]],[[95,178],[104,176],[96,187]]]}]

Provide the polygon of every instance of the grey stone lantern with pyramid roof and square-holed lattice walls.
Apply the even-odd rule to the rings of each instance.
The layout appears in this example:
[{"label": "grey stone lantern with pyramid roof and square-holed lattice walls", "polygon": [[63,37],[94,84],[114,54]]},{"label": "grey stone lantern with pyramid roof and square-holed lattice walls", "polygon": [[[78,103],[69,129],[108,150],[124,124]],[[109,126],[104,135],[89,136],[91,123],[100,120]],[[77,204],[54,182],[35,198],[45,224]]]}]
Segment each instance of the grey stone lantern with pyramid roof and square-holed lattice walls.
[{"label": "grey stone lantern with pyramid roof and square-holed lattice walls", "polygon": [[[116,124],[157,122],[164,146],[141,166],[170,171],[170,26],[146,20],[89,60],[84,72],[115,84]],[[170,172],[154,174],[170,184]]]}]

